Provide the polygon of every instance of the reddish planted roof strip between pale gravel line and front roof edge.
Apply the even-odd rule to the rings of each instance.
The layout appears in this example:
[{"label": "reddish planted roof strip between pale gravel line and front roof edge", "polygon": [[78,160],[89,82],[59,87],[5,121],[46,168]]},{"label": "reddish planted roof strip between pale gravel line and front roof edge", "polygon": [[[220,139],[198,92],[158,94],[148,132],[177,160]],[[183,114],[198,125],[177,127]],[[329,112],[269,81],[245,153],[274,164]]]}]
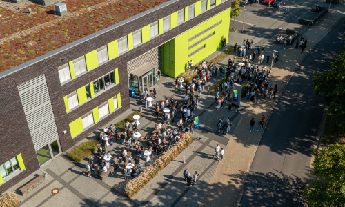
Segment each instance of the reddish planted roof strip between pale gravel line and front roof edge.
[{"label": "reddish planted roof strip between pale gravel line and front roof edge", "polygon": [[[59,21],[44,28],[43,31],[35,31],[25,37],[0,43],[0,72],[61,48],[166,1],[168,0],[115,1],[101,8],[83,11],[77,17]],[[50,16],[46,18],[55,18],[53,15],[46,15]],[[10,28],[5,29],[10,30]],[[35,44],[26,47],[25,44],[32,40]]]}]

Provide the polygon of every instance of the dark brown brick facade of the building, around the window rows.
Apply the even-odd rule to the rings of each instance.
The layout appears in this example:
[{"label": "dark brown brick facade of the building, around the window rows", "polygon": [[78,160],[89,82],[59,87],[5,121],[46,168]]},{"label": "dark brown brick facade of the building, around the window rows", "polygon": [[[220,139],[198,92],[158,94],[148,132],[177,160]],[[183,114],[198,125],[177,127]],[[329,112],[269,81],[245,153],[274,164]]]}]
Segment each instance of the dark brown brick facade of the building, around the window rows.
[{"label": "dark brown brick facade of the building, around the window rows", "polygon": [[[21,153],[23,156],[23,161],[26,165],[26,170],[24,172],[21,172],[21,174],[13,177],[6,183],[0,184],[0,194],[3,193],[4,190],[12,186],[12,184],[17,183],[18,181],[23,179],[23,177],[28,176],[30,173],[34,172],[34,170],[37,170],[39,168],[37,155],[34,150],[32,139],[30,137],[30,131],[23,112],[23,107],[21,106],[21,100],[19,98],[17,86],[25,83],[26,81],[30,81],[31,79],[34,79],[39,75],[44,74],[46,76],[48,90],[50,93],[50,101],[52,103],[55,122],[57,124],[57,131],[59,133],[61,150],[65,152],[66,150],[77,144],[77,142],[84,139],[84,137],[89,135],[92,131],[98,130],[99,127],[103,126],[108,121],[115,119],[122,112],[130,108],[128,83],[124,81],[128,79],[126,68],[126,63],[128,61],[134,59],[134,57],[138,57],[139,55],[144,54],[146,51],[151,50],[152,48],[161,46],[163,43],[166,43],[170,39],[176,37],[178,34],[181,34],[189,28],[193,28],[202,21],[213,17],[215,14],[226,10],[230,7],[231,2],[226,1],[224,3],[221,3],[220,6],[216,6],[215,8],[212,8],[211,10],[208,10],[195,18],[186,21],[186,23],[183,23],[180,26],[177,26],[175,28],[172,28],[171,30],[168,30],[167,32],[164,32],[163,34],[160,34],[158,37],[155,37],[154,39],[151,39],[150,41],[147,41],[146,43],[143,43],[140,46],[129,50],[123,55],[120,55],[119,57],[116,57],[115,59],[112,59],[102,64],[101,66],[90,70],[89,72],[86,72],[85,75],[77,77],[76,79],[63,84],[63,86],[61,86],[61,83],[59,81],[57,68],[59,66],[62,66],[64,63],[68,63],[68,61],[72,61],[73,59],[85,55],[87,52],[106,45],[106,43],[110,43],[111,41],[119,39],[120,37],[123,37],[130,32],[148,25],[149,23],[166,17],[172,12],[181,10],[182,8],[185,8],[186,6],[189,6],[194,2],[195,0],[186,0],[170,3],[170,5],[146,14],[145,16],[140,17],[135,21],[130,21],[113,30],[104,32],[98,37],[88,39],[83,43],[79,43],[77,46],[72,46],[70,48],[66,46],[66,50],[63,50],[56,55],[52,55],[44,59],[43,61],[34,62],[30,66],[26,66],[26,68],[17,70],[10,75],[6,75],[5,77],[0,77],[0,164],[3,164],[12,157]],[[103,92],[101,95],[90,99],[68,114],[66,113],[65,105],[63,102],[64,96],[68,95],[70,92],[77,90],[77,88],[85,86],[86,84],[95,80],[97,77],[101,77],[102,75],[105,75],[107,72],[110,72],[115,68],[119,68],[120,83],[117,86],[114,86],[110,90],[106,90],[105,92]],[[105,119],[97,122],[95,126],[92,126],[88,130],[82,132],[74,139],[70,137],[70,130],[68,125],[70,122],[86,114],[86,112],[89,112],[90,110],[92,110],[92,108],[99,106],[101,103],[110,99],[110,97],[114,97],[119,92],[121,92],[122,102],[122,107],[119,108],[119,110],[116,110]],[[63,130],[67,131],[66,135],[63,134]]]}]

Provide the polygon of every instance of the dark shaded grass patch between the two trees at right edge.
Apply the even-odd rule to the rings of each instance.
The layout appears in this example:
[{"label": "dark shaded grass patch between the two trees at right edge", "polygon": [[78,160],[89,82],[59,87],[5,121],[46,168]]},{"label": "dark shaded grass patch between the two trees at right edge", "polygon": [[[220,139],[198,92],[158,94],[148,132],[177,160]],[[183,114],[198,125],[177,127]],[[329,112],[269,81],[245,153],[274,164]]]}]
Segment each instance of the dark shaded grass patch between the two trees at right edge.
[{"label": "dark shaded grass patch between the two trees at right edge", "polygon": [[324,126],[324,135],[322,136],[322,144],[345,144],[345,135],[342,129],[335,124],[334,119],[327,117],[326,124]]}]

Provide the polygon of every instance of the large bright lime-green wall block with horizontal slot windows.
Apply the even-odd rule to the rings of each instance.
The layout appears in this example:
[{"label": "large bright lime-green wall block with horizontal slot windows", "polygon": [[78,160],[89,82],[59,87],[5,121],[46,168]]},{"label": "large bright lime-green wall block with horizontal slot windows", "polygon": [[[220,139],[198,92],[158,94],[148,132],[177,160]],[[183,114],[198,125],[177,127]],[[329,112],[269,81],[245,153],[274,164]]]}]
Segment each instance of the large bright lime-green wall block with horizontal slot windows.
[{"label": "large bright lime-green wall block with horizontal slot windows", "polygon": [[[221,23],[217,26],[202,33],[206,28],[210,28],[219,22]],[[170,77],[177,77],[186,70],[187,61],[193,60],[194,63],[198,63],[221,48],[221,40],[224,38],[228,39],[229,24],[230,9],[215,15],[198,26],[180,34],[175,39],[164,43],[162,46],[163,73]],[[189,41],[196,34],[200,35]],[[190,46],[193,46],[193,48],[189,49]],[[202,49],[188,57],[189,54],[198,48]]]}]

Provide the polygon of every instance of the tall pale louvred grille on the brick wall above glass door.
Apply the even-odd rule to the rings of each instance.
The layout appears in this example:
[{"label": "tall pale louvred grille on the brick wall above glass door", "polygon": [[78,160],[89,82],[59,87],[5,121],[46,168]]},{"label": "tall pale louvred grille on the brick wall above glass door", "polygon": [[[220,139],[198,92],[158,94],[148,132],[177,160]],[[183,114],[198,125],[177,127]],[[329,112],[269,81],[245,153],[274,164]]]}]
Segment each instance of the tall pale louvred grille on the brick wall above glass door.
[{"label": "tall pale louvred grille on the brick wall above glass door", "polygon": [[39,150],[59,138],[46,77],[41,75],[18,86],[34,149]]}]

